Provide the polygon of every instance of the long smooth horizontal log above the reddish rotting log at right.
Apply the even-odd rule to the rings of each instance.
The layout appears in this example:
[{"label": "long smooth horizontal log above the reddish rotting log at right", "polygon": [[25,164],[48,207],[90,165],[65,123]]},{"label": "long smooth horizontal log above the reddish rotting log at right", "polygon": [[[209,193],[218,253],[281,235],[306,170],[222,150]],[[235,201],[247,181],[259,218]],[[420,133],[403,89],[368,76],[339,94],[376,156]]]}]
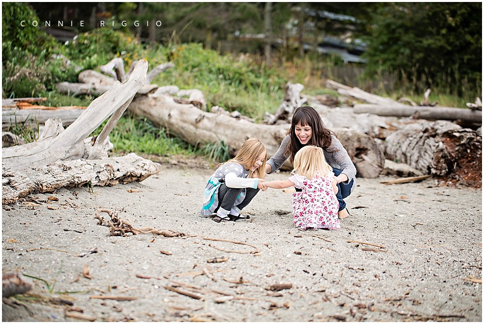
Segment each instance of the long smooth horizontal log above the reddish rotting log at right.
[{"label": "long smooth horizontal log above the reddish rotting log at right", "polygon": [[356,114],[370,113],[378,116],[409,117],[426,120],[461,120],[465,122],[482,123],[483,114],[481,110],[471,110],[453,107],[422,107],[398,105],[370,105],[358,104],[353,107]]}]

